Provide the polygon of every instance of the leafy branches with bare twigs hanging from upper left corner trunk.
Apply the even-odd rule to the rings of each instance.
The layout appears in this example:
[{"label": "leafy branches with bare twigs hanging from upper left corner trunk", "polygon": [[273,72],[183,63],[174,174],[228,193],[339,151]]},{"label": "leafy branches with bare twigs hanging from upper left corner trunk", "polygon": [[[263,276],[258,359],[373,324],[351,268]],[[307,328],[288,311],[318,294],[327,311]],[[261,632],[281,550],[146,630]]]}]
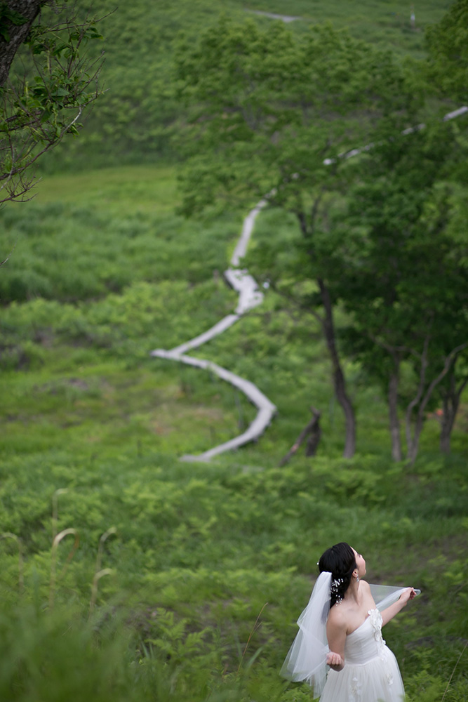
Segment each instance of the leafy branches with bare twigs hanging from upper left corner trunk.
[{"label": "leafy branches with bare twigs hanging from upper left corner trunk", "polygon": [[[5,11],[0,6],[0,15]],[[20,18],[9,19],[20,23]],[[31,166],[66,134],[79,133],[83,110],[102,94],[102,54],[96,60],[86,55],[88,42],[102,39],[96,27],[100,19],[81,19],[74,8],[59,22],[39,18],[29,29],[29,69],[0,88],[0,204],[29,199],[35,183]]]}]

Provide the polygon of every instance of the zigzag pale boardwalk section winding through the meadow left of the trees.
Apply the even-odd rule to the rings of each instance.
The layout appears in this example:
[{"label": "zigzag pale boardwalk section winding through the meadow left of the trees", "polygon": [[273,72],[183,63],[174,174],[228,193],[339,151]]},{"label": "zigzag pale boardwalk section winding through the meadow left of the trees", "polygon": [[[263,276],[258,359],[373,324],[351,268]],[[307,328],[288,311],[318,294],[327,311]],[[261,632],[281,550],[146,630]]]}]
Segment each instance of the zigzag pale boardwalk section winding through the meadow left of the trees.
[{"label": "zigzag pale boardwalk section winding through the meadow left of the trees", "polygon": [[245,256],[247,251],[248,242],[250,241],[250,236],[253,231],[253,225],[255,224],[255,218],[258,216],[262,208],[267,204],[267,200],[261,200],[258,205],[256,205],[253,210],[251,210],[246,218],[243,220],[243,226],[241,231],[241,236],[237,242],[236,249],[232,255],[230,261],[230,267],[225,271],[225,279],[234,290],[239,293],[239,303],[236,310],[232,314],[228,314],[227,317],[220,319],[220,322],[212,326],[208,331],[204,331],[199,336],[196,336],[189,341],[186,341],[179,346],[167,351],[165,349],[154,349],[151,355],[157,358],[165,358],[173,361],[179,361],[185,363],[188,366],[195,366],[196,368],[201,368],[211,373],[215,373],[218,378],[226,380],[227,383],[231,383],[234,388],[238,388],[243,392],[244,395],[252,402],[258,409],[257,416],[250,423],[248,429],[240,434],[234,439],[214,446],[213,449],[199,453],[196,456],[182,456],[182,461],[210,461],[213,456],[218,456],[219,453],[224,453],[225,451],[230,451],[232,449],[237,449],[239,446],[243,446],[250,441],[257,439],[265,428],[269,425],[276,413],[276,406],[254,385],[250,383],[250,380],[236,376],[236,373],[228,371],[222,366],[208,361],[206,359],[199,359],[193,356],[187,356],[186,352],[190,349],[198,348],[202,344],[210,341],[211,339],[221,334],[229,326],[232,326],[238,319],[241,318],[243,314],[248,312],[248,310],[253,309],[257,305],[260,305],[263,301],[263,294],[258,289],[258,286],[248,271],[240,269],[239,263],[241,258]]}]

